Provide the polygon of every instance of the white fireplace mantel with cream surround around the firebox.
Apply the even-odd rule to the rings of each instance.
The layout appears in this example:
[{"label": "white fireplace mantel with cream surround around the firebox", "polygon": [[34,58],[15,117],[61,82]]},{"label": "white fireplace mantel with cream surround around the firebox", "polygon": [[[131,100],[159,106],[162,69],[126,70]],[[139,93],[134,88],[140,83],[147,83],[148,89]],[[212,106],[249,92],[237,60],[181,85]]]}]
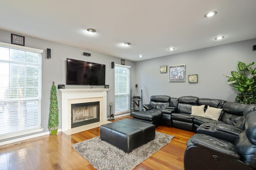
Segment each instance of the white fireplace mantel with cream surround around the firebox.
[{"label": "white fireplace mantel with cream surround around the firebox", "polygon": [[[108,88],[80,88],[80,89],[59,89],[61,91],[61,120],[62,131],[66,135],[85,131],[102,124],[109,123],[107,121],[107,91]],[[100,122],[92,123],[71,129],[71,104],[100,102]]]}]

